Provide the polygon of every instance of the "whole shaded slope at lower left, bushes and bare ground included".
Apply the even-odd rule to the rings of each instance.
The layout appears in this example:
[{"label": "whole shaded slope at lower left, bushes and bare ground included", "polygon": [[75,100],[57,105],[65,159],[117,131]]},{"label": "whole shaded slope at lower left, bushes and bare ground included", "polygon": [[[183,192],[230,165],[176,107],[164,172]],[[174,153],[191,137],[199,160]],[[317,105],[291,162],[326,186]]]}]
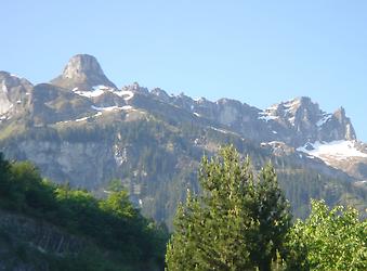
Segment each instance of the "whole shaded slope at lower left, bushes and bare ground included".
[{"label": "whole shaded slope at lower left, bushes and bare ground included", "polygon": [[[10,163],[0,155],[1,267],[5,270],[19,266],[29,270],[161,270],[168,238],[165,227],[145,219],[129,202],[126,191],[107,192],[106,198],[97,199],[87,191],[56,185],[42,179],[32,164]],[[19,217],[15,219],[19,223],[9,227],[9,214]],[[36,229],[22,225],[27,218],[36,221]],[[25,238],[17,236],[16,228],[39,231],[41,225],[55,228],[57,234],[73,240],[73,244],[62,248],[61,241],[55,244],[60,246],[57,249],[48,251],[44,248],[50,245],[42,246],[41,241],[36,244],[31,233],[25,234]],[[44,235],[41,238],[49,238],[47,243],[53,242],[48,230],[40,234]]]}]

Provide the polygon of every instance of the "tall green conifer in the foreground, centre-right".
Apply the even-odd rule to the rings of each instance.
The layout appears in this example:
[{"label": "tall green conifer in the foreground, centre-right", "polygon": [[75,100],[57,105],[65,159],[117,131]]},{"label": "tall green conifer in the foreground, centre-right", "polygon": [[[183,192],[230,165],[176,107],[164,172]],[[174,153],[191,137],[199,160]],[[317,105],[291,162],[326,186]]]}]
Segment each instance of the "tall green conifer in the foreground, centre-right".
[{"label": "tall green conifer in the foreground, centre-right", "polygon": [[254,181],[234,147],[204,158],[202,195],[180,205],[166,255],[169,270],[270,270],[289,228],[288,203],[271,166]]}]

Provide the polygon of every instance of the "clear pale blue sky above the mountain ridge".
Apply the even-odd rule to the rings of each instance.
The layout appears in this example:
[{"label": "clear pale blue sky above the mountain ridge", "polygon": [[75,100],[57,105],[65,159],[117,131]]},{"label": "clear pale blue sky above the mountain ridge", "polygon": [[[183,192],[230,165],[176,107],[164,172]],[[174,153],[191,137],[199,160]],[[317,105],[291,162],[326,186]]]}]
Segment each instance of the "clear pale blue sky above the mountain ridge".
[{"label": "clear pale blue sky above the mountain ridge", "polygon": [[340,105],[367,142],[367,1],[3,1],[0,69],[32,82],[93,54],[118,86]]}]

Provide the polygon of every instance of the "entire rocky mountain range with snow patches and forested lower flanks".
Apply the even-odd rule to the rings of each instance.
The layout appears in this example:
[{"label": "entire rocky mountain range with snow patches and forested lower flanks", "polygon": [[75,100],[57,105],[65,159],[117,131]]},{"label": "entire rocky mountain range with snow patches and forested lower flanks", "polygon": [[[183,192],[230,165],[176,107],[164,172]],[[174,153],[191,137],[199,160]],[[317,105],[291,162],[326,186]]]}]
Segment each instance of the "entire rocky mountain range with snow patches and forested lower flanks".
[{"label": "entire rocky mountain range with snow patches and forested lower flanks", "polygon": [[100,197],[117,183],[145,216],[169,227],[186,190],[199,190],[202,155],[230,143],[255,170],[273,163],[296,217],[309,214],[310,198],[367,207],[367,144],[342,107],[326,113],[302,96],[260,109],[136,82],[118,88],[87,54],[47,83],[0,72],[8,159],[31,160],[44,177]]}]

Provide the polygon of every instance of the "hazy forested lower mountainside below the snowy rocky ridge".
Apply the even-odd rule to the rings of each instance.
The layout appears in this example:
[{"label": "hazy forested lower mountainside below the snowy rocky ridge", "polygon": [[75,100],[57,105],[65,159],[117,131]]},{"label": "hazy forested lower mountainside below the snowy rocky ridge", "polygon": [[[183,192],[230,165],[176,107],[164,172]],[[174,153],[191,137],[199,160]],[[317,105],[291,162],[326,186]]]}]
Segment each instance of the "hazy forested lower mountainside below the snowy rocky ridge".
[{"label": "hazy forested lower mountainside below the snowy rocky ridge", "polygon": [[[193,144],[196,139],[197,144]],[[117,179],[146,217],[170,228],[186,189],[199,189],[197,169],[201,156],[214,155],[225,143],[234,144],[243,156],[249,155],[257,170],[272,160],[296,217],[310,214],[310,198],[325,198],[330,206],[352,204],[361,210],[366,208],[367,190],[345,173],[307,164],[292,153],[276,156],[272,149],[257,146],[238,134],[189,122],[173,126],[154,117],[134,121],[104,118],[26,128],[0,142],[11,157],[40,160],[39,166],[52,180],[86,188],[97,196],[104,196],[109,180]],[[105,181],[100,183],[99,178]]]}]

